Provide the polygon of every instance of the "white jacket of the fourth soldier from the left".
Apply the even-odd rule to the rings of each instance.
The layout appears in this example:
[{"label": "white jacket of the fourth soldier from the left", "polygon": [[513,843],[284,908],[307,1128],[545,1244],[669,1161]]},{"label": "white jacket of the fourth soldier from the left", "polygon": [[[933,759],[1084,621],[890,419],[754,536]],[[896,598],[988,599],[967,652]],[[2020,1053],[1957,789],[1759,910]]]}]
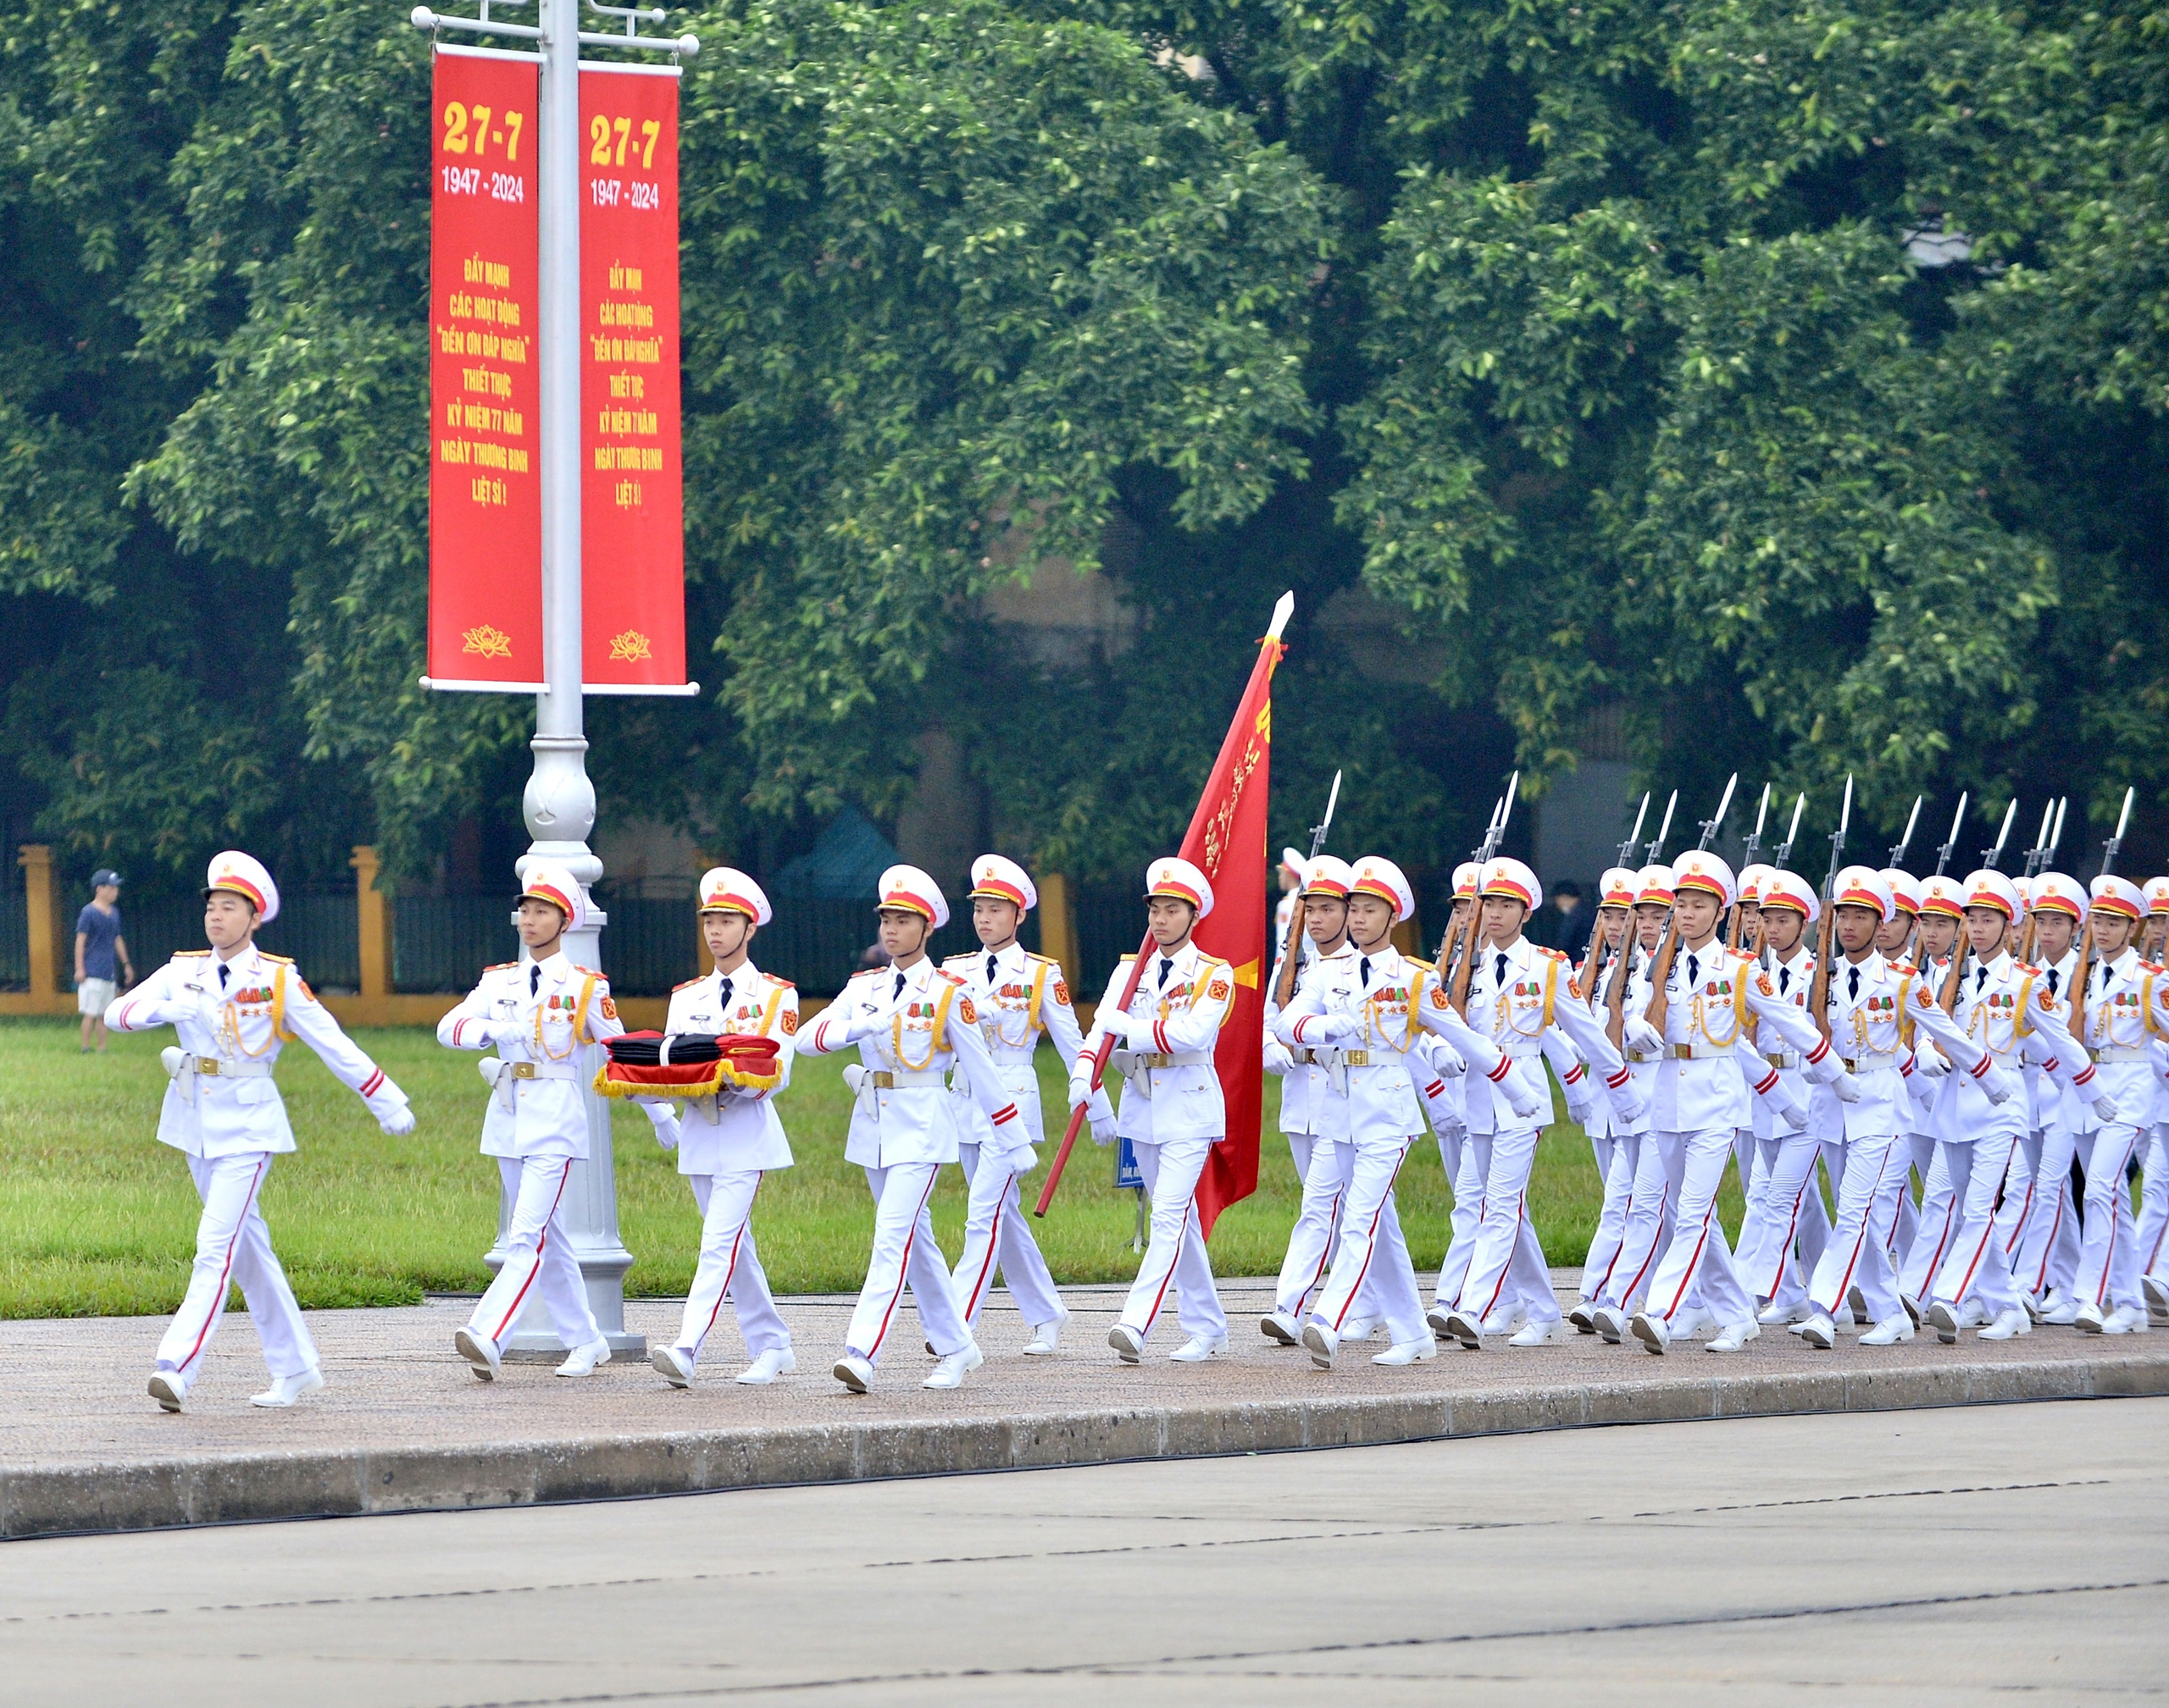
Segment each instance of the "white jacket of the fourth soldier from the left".
[{"label": "white jacket of the fourth soldier from the left", "polygon": [[811,1056],[859,1047],[865,1073],[850,1105],[848,1162],[861,1168],[957,1162],[950,1066],[963,1066],[967,1095],[998,1134],[1024,1127],[978,1021],[963,980],[922,956],[904,969],[872,967],[855,975],[798,1034],[798,1049]]}]

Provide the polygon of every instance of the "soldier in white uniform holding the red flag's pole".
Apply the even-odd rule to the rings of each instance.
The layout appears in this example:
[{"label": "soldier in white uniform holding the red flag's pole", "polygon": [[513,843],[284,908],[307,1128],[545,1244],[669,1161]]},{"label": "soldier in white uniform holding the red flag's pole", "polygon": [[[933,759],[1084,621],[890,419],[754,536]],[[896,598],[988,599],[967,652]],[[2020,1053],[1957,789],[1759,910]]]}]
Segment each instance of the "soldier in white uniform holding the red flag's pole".
[{"label": "soldier in white uniform holding the red flag's pole", "polygon": [[1212,1264],[1197,1220],[1197,1181],[1212,1147],[1228,1138],[1215,1049],[1234,1008],[1234,969],[1191,939],[1212,913],[1212,884],[1180,858],[1154,861],[1145,871],[1145,919],[1154,952],[1128,1010],[1121,988],[1130,978],[1126,956],[1108,975],[1106,995],[1069,1071],[1069,1108],[1091,1097],[1091,1064],[1102,1038],[1115,1040],[1121,1071],[1121,1138],[1137,1149],[1137,1166],[1152,1194],[1152,1240],[1121,1320],[1106,1335],[1115,1357],[1137,1363],[1145,1350],[1169,1285],[1189,1340],[1169,1357],[1204,1363],[1228,1353],[1228,1311],[1212,1285]]}]

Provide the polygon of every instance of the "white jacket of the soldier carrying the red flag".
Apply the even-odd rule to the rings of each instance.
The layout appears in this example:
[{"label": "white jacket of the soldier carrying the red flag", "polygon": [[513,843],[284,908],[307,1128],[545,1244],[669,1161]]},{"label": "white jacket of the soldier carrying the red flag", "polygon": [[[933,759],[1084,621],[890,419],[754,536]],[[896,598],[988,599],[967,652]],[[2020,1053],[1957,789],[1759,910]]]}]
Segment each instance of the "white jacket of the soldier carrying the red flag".
[{"label": "white jacket of the soldier carrying the red flag", "polygon": [[1139,1144],[1225,1138],[1228,1101],[1212,1051],[1234,1008],[1234,969],[1197,943],[1184,943],[1171,956],[1154,949],[1145,958],[1145,975],[1137,982],[1126,1025],[1111,1027],[1108,1021],[1124,1012],[1121,986],[1128,984],[1134,960],[1137,956],[1124,956],[1108,975],[1093,1027],[1078,1049],[1078,1066],[1091,1071],[1100,1040],[1115,1032],[1113,1066],[1121,1069],[1117,1131],[1124,1138]]}]

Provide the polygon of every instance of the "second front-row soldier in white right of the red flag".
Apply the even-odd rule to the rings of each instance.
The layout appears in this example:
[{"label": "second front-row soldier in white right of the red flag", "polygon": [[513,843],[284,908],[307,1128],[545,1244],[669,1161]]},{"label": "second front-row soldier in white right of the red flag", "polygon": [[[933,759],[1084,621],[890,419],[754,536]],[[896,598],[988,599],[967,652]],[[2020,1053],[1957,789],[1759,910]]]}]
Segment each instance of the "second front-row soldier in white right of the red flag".
[{"label": "second front-row soldier in white right of the red flag", "polygon": [[[1505,858],[1484,867],[1477,893],[1523,902],[1529,915],[1544,900],[1536,874],[1520,861]],[[1551,1270],[1529,1220],[1529,1170],[1551,1118],[1544,1034],[1553,1027],[1564,1032],[1581,1060],[1603,1075],[1622,1127],[1640,1127],[1646,1116],[1625,1060],[1596,1017],[1575,1001],[1568,978],[1566,956],[1516,934],[1512,943],[1486,943],[1477,949],[1466,1023],[1460,1023],[1440,986],[1432,988],[1423,1006],[1425,1023],[1445,1030],[1447,1040],[1481,1069],[1481,1077],[1471,1073],[1466,1082],[1468,1138],[1462,1144],[1462,1175],[1453,1183],[1455,1203],[1473,1199],[1479,1205],[1475,1235],[1460,1257],[1447,1248],[1447,1266],[1438,1277],[1440,1314],[1432,1318],[1432,1327],[1471,1348],[1484,1344],[1484,1333],[1505,1327],[1492,1318],[1507,1303],[1525,1305],[1531,1324],[1560,1320]],[[1486,1056],[1497,1056],[1497,1064]],[[1507,1298],[1510,1281],[1514,1301]],[[1447,1303],[1449,1283],[1453,1303]]]}]

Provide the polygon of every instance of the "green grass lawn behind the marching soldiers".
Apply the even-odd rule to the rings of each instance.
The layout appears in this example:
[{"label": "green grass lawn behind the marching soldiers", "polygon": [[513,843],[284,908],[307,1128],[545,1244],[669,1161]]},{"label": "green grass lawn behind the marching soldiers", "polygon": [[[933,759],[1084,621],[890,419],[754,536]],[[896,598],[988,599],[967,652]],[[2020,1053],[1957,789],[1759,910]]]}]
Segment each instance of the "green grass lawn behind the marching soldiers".
[{"label": "green grass lawn behind the marching soldiers", "polygon": [[[265,1186],[271,1238],[304,1305],[412,1305],[425,1290],[475,1292],[497,1233],[497,1166],[477,1151],[486,1090],[471,1051],[419,1027],[356,1034],[414,1099],[419,1123],[386,1138],[306,1047],[280,1062],[280,1090],[301,1149]],[[78,1056],[74,1021],[0,1021],[0,1316],[171,1311],[195,1248],[195,1190],[178,1151],[156,1142],[171,1032],[113,1038]],[[798,1064],[777,1110],[798,1166],[770,1175],[755,1207],[761,1261],[779,1292],[852,1292],[865,1272],[872,1201],[844,1162],[846,1058]],[[1063,1075],[1039,1053],[1048,1110]],[[1275,1131],[1280,1082],[1267,1077],[1267,1138],[1256,1196],[1221,1216],[1212,1266],[1273,1274],[1301,1196]],[[616,1110],[618,1222],[633,1251],[627,1292],[683,1294],[698,1246],[692,1192],[633,1108]],[[1043,1155],[1052,1160],[1056,1131]],[[1438,1268],[1451,1192],[1429,1142],[1401,1175],[1401,1225],[1419,1268]],[[1030,1201],[1030,1192],[1026,1199]],[[1531,1205],[1555,1264],[1579,1264],[1601,1188],[1579,1127],[1544,1134]],[[963,1242],[963,1177],[946,1168],[935,1231],[950,1259]],[[1737,1192],[1727,1222],[1737,1227]],[[1061,1196],[1035,1222],[1058,1281],[1128,1281],[1137,1207],[1113,1190],[1111,1153],[1080,1142]]]}]

